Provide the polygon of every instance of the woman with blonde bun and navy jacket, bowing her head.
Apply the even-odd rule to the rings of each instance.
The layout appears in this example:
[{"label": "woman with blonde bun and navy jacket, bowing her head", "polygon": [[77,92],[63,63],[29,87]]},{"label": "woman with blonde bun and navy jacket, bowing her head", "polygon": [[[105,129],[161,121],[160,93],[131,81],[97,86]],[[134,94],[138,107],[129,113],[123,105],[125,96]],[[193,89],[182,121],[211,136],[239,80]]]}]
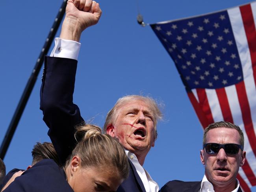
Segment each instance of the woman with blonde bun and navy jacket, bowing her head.
[{"label": "woman with blonde bun and navy jacket, bowing her head", "polygon": [[129,163],[119,142],[93,125],[78,127],[78,142],[65,166],[43,159],[4,192],[113,192],[128,177]]}]

